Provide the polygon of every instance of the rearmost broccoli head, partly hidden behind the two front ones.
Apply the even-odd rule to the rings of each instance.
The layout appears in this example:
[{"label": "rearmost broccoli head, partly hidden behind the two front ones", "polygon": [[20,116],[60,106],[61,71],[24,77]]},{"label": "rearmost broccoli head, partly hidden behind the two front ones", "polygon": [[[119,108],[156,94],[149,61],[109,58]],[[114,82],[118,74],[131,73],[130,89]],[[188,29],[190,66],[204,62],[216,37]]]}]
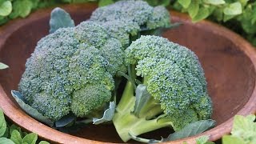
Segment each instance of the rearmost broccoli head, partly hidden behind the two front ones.
[{"label": "rearmost broccoli head, partly hidden behind the two front ones", "polygon": [[170,27],[170,14],[164,6],[152,7],[140,0],[123,0],[94,10],[90,21],[100,23],[110,36],[127,47],[142,34],[158,34],[161,28]]}]

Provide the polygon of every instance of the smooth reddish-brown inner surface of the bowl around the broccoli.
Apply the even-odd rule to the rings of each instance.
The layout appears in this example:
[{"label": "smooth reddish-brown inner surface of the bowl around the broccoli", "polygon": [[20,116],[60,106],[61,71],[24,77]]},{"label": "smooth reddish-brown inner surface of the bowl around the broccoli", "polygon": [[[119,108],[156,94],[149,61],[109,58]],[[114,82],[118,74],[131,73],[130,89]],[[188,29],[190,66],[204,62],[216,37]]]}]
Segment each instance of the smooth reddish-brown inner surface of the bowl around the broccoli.
[{"label": "smooth reddish-brown inner surface of the bowl around the broccoli", "polygon": [[[78,23],[89,18],[92,10],[94,8],[86,12],[71,11],[71,16]],[[0,83],[13,102],[10,90],[17,90],[18,82],[25,70],[26,58],[30,57],[38,40],[48,34],[49,15],[50,13],[18,27],[3,45],[0,45],[0,62],[10,66],[9,69],[0,70]],[[183,22],[175,16],[173,19],[175,22]],[[250,58],[231,42],[228,36],[222,36],[207,27],[190,25],[184,21],[184,24],[177,29],[166,30],[163,37],[189,47],[198,55],[206,74],[209,94],[214,103],[212,118],[217,121],[217,125],[226,122],[242,109],[254,90],[255,71]],[[12,105],[18,109],[15,103]],[[73,134],[102,142],[122,142],[113,126],[98,128],[86,126]],[[156,138],[167,134],[169,132],[166,132],[166,129],[154,132]]]}]

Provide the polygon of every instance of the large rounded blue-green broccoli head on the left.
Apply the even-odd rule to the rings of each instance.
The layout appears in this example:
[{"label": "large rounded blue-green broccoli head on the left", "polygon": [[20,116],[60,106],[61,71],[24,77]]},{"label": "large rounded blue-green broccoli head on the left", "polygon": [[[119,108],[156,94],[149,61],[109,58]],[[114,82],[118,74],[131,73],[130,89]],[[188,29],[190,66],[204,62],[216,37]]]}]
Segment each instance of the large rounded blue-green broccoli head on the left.
[{"label": "large rounded blue-green broccoli head on the left", "polygon": [[[54,122],[71,111],[86,117],[90,110],[110,101],[115,74],[126,72],[124,58],[121,43],[110,38],[103,26],[82,22],[74,28],[59,29],[38,42],[18,88],[30,106]],[[103,93],[105,97],[97,98]],[[85,99],[88,101],[82,103]]]}]

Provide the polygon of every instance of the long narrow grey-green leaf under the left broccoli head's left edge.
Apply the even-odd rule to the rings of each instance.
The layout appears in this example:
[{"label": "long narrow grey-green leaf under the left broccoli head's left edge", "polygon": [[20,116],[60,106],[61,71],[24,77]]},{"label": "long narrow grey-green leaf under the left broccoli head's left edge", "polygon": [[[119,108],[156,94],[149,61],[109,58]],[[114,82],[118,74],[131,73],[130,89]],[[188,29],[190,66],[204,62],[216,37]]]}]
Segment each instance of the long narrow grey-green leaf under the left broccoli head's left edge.
[{"label": "long narrow grey-green leaf under the left broccoli head's left edge", "polygon": [[30,114],[31,117],[37,119],[40,122],[44,122],[49,126],[54,126],[54,122],[52,122],[50,119],[43,116],[41,113],[38,112],[38,110],[35,110],[30,105],[26,104],[23,101],[22,94],[20,94],[18,91],[11,90],[11,94],[16,100],[16,102],[18,102],[18,105],[21,106],[22,110],[26,111],[27,114]]}]

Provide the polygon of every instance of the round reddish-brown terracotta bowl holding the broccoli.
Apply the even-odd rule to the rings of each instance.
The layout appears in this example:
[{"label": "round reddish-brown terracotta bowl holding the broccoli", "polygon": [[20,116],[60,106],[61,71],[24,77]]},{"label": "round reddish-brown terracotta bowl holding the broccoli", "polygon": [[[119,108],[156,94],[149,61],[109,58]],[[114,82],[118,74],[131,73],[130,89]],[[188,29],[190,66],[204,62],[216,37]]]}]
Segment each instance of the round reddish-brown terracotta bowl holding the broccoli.
[{"label": "round reddish-brown terracotta bowl holding the broccoli", "polygon": [[[70,12],[78,24],[90,17],[96,8],[93,4],[62,6]],[[0,27],[0,62],[10,66],[0,70],[0,106],[7,117],[25,130],[37,133],[41,138],[56,143],[122,142],[114,126],[86,126],[74,134],[64,134],[42,124],[24,113],[14,102],[10,90],[17,90],[25,69],[26,58],[34,51],[38,40],[48,34],[50,10],[38,10],[26,19],[18,19]],[[215,141],[231,130],[235,114],[253,114],[256,110],[255,69],[256,52],[243,38],[222,26],[211,22],[190,22],[185,14],[171,12],[173,22],[183,25],[167,30],[163,36],[189,47],[198,54],[205,70],[210,97],[214,103],[213,119],[217,121],[210,135]],[[166,136],[168,129],[146,134],[154,138]],[[201,134],[202,135],[202,134]],[[169,143],[194,143],[197,136]],[[133,141],[130,141],[133,142]]]}]

